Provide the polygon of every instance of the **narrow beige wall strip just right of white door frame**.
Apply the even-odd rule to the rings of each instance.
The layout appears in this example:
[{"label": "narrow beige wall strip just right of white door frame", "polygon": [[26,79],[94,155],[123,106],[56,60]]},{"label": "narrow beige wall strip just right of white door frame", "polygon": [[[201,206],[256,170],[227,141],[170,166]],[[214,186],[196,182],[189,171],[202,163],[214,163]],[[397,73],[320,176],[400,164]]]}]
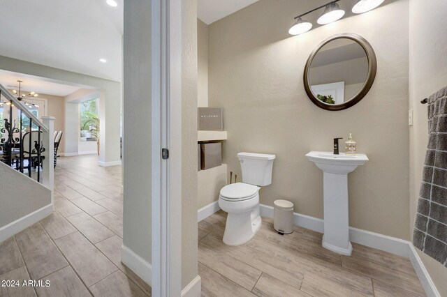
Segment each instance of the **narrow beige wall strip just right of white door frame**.
[{"label": "narrow beige wall strip just right of white door frame", "polygon": [[197,1],[182,1],[182,288],[197,276]]}]

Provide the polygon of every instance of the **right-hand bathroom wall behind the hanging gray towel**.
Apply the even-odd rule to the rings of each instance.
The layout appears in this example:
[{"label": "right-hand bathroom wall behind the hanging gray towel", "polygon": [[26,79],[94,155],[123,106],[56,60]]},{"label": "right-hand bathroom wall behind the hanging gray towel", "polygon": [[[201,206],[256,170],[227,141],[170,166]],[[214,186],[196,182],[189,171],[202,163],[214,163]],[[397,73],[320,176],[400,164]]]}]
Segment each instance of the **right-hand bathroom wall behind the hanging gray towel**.
[{"label": "right-hand bathroom wall behind the hanging gray towel", "polygon": [[[447,86],[447,1],[409,1],[410,231],[413,231],[425,150],[428,143],[427,105],[420,100]],[[418,250],[441,296],[447,296],[447,268]]]}]

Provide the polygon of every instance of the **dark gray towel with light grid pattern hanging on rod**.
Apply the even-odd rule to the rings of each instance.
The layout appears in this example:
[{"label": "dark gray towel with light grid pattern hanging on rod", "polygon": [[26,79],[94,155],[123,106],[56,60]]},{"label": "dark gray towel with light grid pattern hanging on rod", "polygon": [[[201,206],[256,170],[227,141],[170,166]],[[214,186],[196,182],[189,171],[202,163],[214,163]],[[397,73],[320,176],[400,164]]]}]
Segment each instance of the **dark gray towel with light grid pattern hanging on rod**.
[{"label": "dark gray towel with light grid pattern hanging on rod", "polygon": [[447,86],[428,100],[428,145],[413,244],[447,267]]}]

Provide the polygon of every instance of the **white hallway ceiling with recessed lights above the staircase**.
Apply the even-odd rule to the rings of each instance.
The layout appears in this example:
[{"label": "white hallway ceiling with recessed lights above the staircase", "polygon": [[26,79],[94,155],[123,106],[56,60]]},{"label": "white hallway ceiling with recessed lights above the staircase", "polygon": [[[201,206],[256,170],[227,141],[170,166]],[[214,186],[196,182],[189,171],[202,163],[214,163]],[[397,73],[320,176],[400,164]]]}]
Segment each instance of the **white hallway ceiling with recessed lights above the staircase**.
[{"label": "white hallway ceiling with recessed lights above the staircase", "polygon": [[123,0],[115,1],[1,0],[0,55],[120,82]]}]

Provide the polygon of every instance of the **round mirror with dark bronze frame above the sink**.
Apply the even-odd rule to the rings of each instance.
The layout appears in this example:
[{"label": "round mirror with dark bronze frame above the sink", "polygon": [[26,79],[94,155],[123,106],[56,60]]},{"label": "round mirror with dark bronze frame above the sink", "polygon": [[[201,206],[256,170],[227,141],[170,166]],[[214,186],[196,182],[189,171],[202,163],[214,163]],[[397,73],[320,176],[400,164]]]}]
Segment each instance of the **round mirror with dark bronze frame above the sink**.
[{"label": "round mirror with dark bronze frame above the sink", "polygon": [[320,43],[307,60],[307,96],[323,109],[351,107],[371,89],[376,68],[376,55],[367,40],[352,33],[332,36]]}]

